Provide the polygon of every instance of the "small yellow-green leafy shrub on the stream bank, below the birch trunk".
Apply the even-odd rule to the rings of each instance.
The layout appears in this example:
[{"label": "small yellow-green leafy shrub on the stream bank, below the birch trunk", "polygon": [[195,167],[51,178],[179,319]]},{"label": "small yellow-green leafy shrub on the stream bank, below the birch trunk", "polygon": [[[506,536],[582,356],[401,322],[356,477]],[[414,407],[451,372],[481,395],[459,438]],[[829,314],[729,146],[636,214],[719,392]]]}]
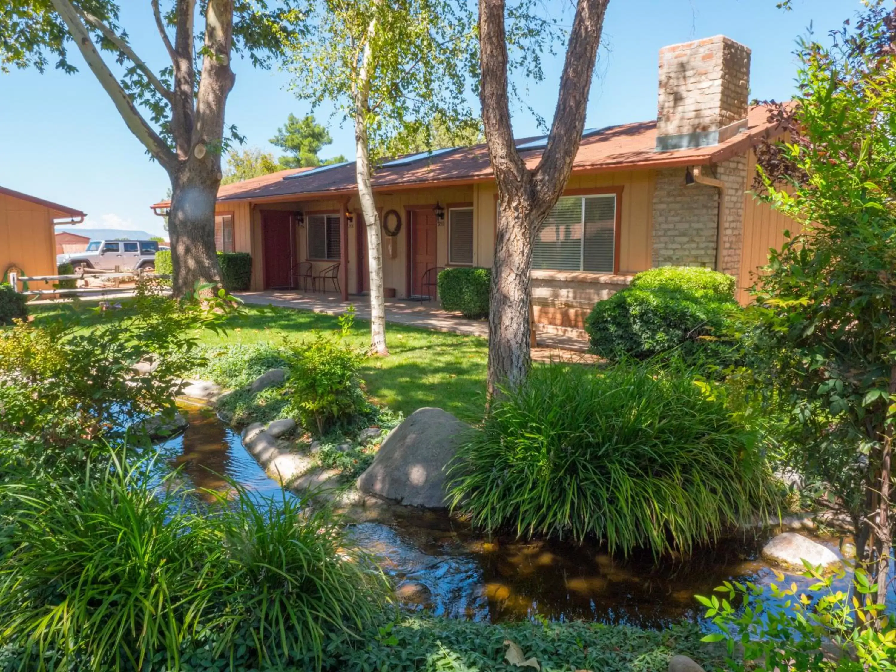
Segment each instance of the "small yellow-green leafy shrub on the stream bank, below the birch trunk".
[{"label": "small yellow-green leafy shrub on the stream bank, below the birch trunk", "polygon": [[323,435],[368,409],[358,376],[363,360],[364,355],[348,343],[322,333],[317,333],[314,340],[291,346],[289,382],[293,406],[306,429],[316,426],[318,435]]}]

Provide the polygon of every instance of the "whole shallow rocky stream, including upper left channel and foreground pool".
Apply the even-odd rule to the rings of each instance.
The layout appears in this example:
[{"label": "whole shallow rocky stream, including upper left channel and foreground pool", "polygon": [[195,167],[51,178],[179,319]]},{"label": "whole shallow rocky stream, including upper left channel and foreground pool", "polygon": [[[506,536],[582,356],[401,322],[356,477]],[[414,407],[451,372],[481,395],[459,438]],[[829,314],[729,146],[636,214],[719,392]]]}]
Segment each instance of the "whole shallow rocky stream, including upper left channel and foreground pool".
[{"label": "whole shallow rocky stream, including upper left channel and foreground pool", "polygon": [[[246,452],[239,435],[209,411],[188,411],[185,434],[162,444],[162,457],[182,467],[194,487],[226,490],[232,478],[263,497],[280,486]],[[654,564],[650,554],[609,556],[596,544],[521,542],[484,536],[446,513],[402,506],[378,509],[351,526],[359,547],[378,556],[410,604],[436,614],[491,621],[530,616],[661,627],[698,619],[694,594],[708,595],[726,579],[775,582],[760,559],[775,530],[720,540],[686,558]],[[815,538],[835,552],[837,538]],[[805,586],[801,577],[789,577]],[[847,588],[848,580],[840,581]],[[891,604],[896,604],[896,594]]]}]

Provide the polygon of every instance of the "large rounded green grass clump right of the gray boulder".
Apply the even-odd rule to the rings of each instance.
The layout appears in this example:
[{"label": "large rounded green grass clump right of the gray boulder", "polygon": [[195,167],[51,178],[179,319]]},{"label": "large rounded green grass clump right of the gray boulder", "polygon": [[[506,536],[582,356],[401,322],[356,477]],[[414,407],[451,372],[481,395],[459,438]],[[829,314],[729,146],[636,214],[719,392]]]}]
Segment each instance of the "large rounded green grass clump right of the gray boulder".
[{"label": "large rounded green grass clump right of the gray boulder", "polygon": [[521,537],[688,551],[774,500],[721,396],[678,363],[537,367],[461,445],[452,506]]}]

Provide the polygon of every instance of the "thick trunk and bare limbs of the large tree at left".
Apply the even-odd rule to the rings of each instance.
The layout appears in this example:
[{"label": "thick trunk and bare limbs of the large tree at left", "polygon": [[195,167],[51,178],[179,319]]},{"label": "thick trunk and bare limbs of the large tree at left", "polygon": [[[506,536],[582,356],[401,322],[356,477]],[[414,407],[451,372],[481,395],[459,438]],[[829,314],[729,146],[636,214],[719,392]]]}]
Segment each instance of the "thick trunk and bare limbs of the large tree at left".
[{"label": "thick trunk and bare limbs of the large tree at left", "polygon": [[[97,17],[75,7],[71,0],[51,2],[90,70],[115,104],[118,114],[151,156],[168,172],[172,194],[168,233],[172,243],[175,296],[192,291],[197,282],[218,284],[220,269],[215,254],[214,212],[221,179],[224,107],[234,82],[230,69],[233,0],[209,0],[205,7],[204,54],[198,89],[194,70],[196,0],[177,0],[173,43],[168,38],[166,24],[159,11],[159,0],[151,0],[156,27],[171,59],[173,84],[170,90],[134,53],[127,41]],[[168,147],[143,119],[134,100],[99,55],[85,23],[115,44],[146,75],[152,89],[168,102],[171,108],[168,130],[173,147]]]}]

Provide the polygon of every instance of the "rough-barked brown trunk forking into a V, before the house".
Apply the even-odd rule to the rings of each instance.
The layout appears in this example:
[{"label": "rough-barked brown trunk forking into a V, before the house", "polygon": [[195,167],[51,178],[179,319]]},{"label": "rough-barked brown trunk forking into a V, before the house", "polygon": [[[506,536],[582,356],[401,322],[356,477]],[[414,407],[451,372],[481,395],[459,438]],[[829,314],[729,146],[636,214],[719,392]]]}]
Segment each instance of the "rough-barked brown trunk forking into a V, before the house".
[{"label": "rough-barked brown trunk forking into a V, before the house", "polygon": [[479,97],[500,203],[488,317],[490,396],[499,386],[521,383],[529,371],[532,244],[573,170],[607,4],[578,0],[547,148],[530,169],[511,128],[504,0],[479,0]]}]

